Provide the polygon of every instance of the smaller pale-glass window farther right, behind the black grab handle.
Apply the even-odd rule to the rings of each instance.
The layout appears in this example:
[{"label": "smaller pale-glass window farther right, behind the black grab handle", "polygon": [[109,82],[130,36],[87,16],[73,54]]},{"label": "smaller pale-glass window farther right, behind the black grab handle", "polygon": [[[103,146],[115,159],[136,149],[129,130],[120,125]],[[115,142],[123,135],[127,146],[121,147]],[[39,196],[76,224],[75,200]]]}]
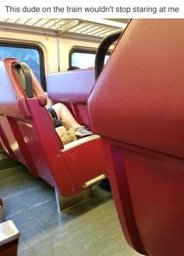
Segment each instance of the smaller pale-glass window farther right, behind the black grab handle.
[{"label": "smaller pale-glass window farther right, behind the black grab handle", "polygon": [[[105,56],[104,63],[108,61],[110,53]],[[69,55],[69,67],[94,67],[94,59],[96,56],[96,51],[94,50],[82,50],[82,49],[72,49]]]}]

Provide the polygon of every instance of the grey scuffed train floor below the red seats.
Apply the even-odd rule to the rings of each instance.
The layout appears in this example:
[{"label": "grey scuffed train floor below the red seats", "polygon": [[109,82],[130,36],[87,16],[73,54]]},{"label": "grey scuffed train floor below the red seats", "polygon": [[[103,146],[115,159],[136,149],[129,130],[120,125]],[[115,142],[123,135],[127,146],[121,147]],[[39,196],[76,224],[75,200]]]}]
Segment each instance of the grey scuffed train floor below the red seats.
[{"label": "grey scuffed train floor below the red seats", "polygon": [[93,198],[59,213],[55,191],[23,165],[0,168],[3,221],[19,229],[18,256],[139,256],[122,235],[111,193],[94,186]]}]

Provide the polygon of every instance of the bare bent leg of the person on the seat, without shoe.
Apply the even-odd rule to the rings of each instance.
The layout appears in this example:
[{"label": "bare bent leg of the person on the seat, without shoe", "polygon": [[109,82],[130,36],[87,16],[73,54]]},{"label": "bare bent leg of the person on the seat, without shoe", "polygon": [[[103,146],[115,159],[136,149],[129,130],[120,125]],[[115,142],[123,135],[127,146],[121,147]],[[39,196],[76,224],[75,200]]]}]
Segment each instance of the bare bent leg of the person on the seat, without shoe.
[{"label": "bare bent leg of the person on the seat, without shoe", "polygon": [[68,107],[65,106],[64,104],[56,103],[51,107],[55,110],[58,116],[58,119],[66,121],[71,125],[72,128],[77,128],[81,126],[79,123],[77,123],[76,119],[73,117],[73,114],[69,111]]}]

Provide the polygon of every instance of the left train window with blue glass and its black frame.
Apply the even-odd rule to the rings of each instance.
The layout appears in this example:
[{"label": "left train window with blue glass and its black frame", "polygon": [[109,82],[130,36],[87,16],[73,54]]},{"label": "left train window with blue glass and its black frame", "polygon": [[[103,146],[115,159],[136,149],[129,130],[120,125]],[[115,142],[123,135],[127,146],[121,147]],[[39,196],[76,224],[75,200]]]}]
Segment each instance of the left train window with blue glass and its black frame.
[{"label": "left train window with blue glass and its black frame", "polygon": [[36,46],[10,45],[0,43],[0,59],[14,57],[27,63],[33,70],[37,80],[45,88],[43,53]]}]

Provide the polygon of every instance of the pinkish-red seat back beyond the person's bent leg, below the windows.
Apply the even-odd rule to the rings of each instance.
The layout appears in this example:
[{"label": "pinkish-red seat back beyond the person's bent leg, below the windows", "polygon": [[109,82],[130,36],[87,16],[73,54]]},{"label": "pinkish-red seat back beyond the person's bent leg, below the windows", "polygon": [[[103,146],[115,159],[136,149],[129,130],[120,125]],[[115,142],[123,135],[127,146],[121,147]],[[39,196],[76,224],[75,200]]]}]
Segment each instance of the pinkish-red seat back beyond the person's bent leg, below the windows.
[{"label": "pinkish-red seat back beyond the person's bent leg, below the windows", "polygon": [[55,102],[65,103],[76,120],[89,127],[87,98],[94,87],[94,68],[48,74],[47,92]]}]

